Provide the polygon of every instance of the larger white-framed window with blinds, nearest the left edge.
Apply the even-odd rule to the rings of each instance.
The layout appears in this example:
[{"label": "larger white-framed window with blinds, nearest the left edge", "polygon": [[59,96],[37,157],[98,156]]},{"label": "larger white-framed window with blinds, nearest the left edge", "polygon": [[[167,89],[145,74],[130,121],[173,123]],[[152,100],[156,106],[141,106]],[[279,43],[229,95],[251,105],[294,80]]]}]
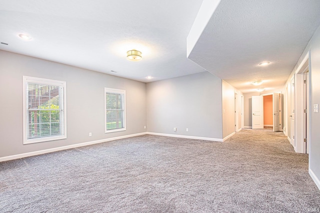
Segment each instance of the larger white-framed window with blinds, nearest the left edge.
[{"label": "larger white-framed window with blinds, nearest the left edge", "polygon": [[65,82],[23,76],[23,144],[66,138]]}]

